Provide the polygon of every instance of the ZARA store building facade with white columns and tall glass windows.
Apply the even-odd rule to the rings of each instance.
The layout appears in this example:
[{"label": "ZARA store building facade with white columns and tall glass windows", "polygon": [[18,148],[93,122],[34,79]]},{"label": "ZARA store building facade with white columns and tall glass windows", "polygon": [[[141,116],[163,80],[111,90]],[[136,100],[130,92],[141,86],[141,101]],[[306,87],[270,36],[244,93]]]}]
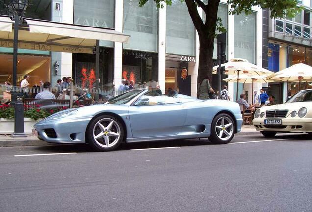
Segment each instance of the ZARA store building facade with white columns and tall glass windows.
[{"label": "ZARA store building facade with white columns and tall glass windows", "polygon": [[[205,1],[205,0],[204,0]],[[153,1],[138,7],[138,0],[34,0],[26,17],[53,22],[113,28],[130,35],[128,44],[100,41],[100,87],[114,90],[125,78],[138,82],[156,82],[163,93],[168,88],[196,96],[199,39],[185,3],[173,0],[171,6],[157,9]],[[28,11],[29,10],[29,11]],[[203,18],[205,14],[198,8]],[[227,60],[244,58],[262,66],[262,9],[253,8],[250,15],[228,15],[229,5],[220,3],[218,16],[227,29]],[[217,57],[214,45],[214,59]],[[84,53],[59,53],[48,50],[19,49],[18,81],[24,74],[30,84],[72,76],[75,83],[91,87],[95,82],[95,56]],[[10,46],[0,47],[0,60],[12,57]],[[10,76],[11,62],[1,67],[1,82]],[[58,72],[54,64],[58,63]],[[2,66],[2,65],[1,65]],[[7,70],[5,73],[2,70]],[[187,70],[187,77],[181,73]],[[228,76],[223,76],[226,78]],[[229,83],[231,99],[236,100],[236,83]],[[217,90],[217,76],[213,77]],[[238,84],[239,94],[251,100],[250,84]],[[262,84],[255,84],[260,90]]]}]

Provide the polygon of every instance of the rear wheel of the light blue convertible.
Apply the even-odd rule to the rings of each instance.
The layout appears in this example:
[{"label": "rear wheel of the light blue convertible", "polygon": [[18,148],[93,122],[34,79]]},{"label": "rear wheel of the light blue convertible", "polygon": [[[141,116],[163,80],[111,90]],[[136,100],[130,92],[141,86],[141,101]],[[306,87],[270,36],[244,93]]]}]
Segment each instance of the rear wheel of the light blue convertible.
[{"label": "rear wheel of the light blue convertible", "polygon": [[235,123],[233,118],[226,113],[221,113],[214,117],[208,139],[213,144],[227,144],[234,137],[234,132]]}]

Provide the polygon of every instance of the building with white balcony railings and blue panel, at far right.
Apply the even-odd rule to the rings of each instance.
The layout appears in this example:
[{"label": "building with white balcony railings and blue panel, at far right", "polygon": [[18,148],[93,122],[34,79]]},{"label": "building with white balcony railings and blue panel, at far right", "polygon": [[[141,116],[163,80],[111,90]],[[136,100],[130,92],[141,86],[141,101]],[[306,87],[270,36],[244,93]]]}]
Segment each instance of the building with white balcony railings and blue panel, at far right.
[{"label": "building with white balcony railings and blue panel, at far right", "polygon": [[[268,69],[280,71],[296,63],[312,66],[312,2],[299,0],[303,9],[294,17],[285,19],[268,19]],[[269,14],[267,17],[270,17]],[[298,79],[299,80],[299,79]],[[269,83],[268,92],[278,97],[280,103],[285,102],[289,94],[299,89],[312,88],[311,83],[274,82]]]}]

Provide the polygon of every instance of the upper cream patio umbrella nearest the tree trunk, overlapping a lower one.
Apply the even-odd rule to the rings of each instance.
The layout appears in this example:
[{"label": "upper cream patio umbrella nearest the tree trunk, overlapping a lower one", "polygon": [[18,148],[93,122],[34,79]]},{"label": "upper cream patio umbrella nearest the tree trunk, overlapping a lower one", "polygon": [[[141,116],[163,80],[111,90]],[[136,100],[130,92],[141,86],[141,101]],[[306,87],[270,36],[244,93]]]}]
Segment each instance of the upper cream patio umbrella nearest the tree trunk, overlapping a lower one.
[{"label": "upper cream patio umbrella nearest the tree trunk, overlapping a lower one", "polygon": [[[221,66],[225,67],[225,74],[235,75],[237,83],[239,82],[239,74],[250,74],[256,76],[274,75],[274,72],[260,66],[256,66],[255,64],[248,62],[248,60],[241,58],[231,59],[230,62],[223,63]],[[212,73],[216,73],[217,68],[218,66],[214,66],[212,68]],[[236,99],[238,99],[238,85],[236,89]]]}]

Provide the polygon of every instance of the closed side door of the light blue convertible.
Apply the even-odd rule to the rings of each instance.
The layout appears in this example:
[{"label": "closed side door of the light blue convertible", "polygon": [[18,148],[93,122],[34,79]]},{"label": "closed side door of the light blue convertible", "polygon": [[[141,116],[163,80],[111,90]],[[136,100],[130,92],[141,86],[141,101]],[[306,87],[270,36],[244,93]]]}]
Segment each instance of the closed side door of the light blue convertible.
[{"label": "closed side door of the light blue convertible", "polygon": [[170,136],[181,132],[187,113],[183,103],[177,97],[147,98],[149,101],[143,104],[129,106],[133,138]]}]

